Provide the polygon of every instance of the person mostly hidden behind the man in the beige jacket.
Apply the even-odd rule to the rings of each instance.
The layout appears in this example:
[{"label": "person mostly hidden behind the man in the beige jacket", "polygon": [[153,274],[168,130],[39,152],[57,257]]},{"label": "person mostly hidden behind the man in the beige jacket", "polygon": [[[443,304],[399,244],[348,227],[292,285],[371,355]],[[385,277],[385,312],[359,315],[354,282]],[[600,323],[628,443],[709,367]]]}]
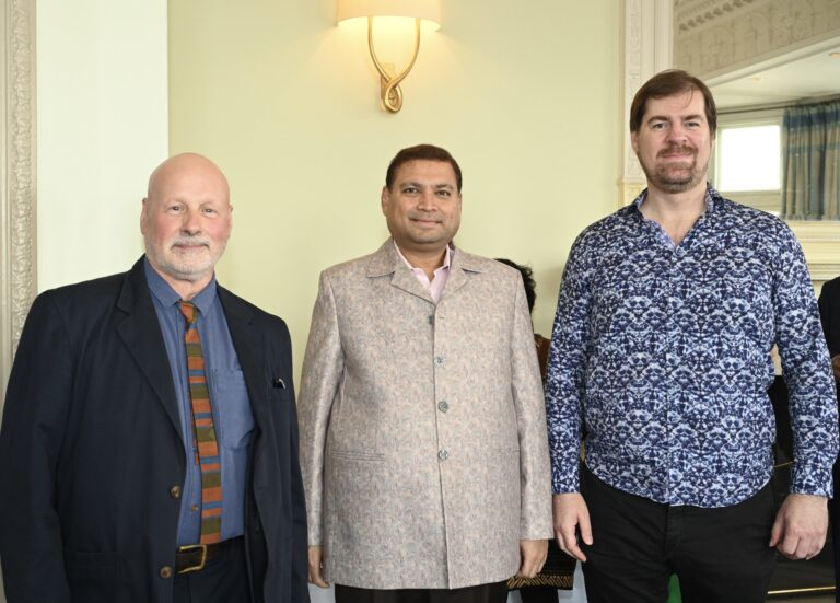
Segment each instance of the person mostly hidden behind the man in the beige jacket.
[{"label": "person mostly hidden behind the man in the beige jacket", "polygon": [[[537,282],[534,280],[534,270],[529,266],[516,264],[511,259],[497,257],[497,262],[516,268],[522,275],[522,283],[525,287],[525,298],[528,300],[528,313],[534,314],[534,304],[537,301]],[[533,327],[533,324],[532,324]],[[537,359],[542,379],[546,378],[546,362],[548,361],[548,347],[551,340],[534,333],[534,343],[537,347]],[[542,571],[534,578],[514,576],[508,580],[510,590],[518,590],[522,603],[557,603],[557,589],[571,590],[574,587],[574,557],[570,557],[551,540],[548,543],[548,557],[542,566]]]}]

